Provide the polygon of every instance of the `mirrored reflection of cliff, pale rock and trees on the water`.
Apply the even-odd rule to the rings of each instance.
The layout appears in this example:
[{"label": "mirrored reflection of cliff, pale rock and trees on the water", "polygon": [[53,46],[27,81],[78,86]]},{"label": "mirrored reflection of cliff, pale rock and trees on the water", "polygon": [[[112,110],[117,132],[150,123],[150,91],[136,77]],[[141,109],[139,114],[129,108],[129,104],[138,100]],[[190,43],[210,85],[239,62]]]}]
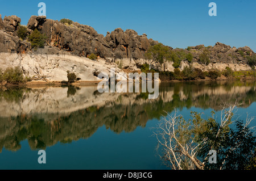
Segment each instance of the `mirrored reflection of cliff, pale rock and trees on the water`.
[{"label": "mirrored reflection of cliff, pale rock and trees on the water", "polygon": [[31,149],[56,142],[89,138],[105,125],[116,133],[132,132],[163,110],[213,108],[237,100],[244,107],[256,99],[255,82],[162,83],[159,98],[146,93],[99,94],[97,87],[30,87],[0,91],[0,152],[20,149],[28,140]]}]

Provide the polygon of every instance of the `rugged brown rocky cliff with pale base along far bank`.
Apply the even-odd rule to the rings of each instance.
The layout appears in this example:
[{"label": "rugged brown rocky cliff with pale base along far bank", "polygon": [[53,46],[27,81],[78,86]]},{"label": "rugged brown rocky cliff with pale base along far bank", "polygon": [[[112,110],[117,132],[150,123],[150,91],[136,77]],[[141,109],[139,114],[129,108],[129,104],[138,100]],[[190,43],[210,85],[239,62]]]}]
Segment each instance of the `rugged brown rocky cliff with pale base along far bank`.
[{"label": "rugged brown rocky cliff with pale base along far bank", "polygon": [[[95,81],[95,72],[109,72],[110,68],[118,67],[119,72],[123,72],[121,69],[138,71],[141,65],[148,62],[145,57],[147,50],[151,45],[158,44],[158,41],[148,39],[146,34],[138,35],[134,30],[117,28],[104,36],[92,27],[77,22],[68,24],[46,19],[46,16],[31,16],[27,24],[28,33],[38,29],[47,36],[45,48],[34,50],[28,40],[17,36],[20,22],[17,16],[2,19],[0,15],[0,68],[18,65],[24,74],[49,81],[67,79],[67,70],[84,74],[84,81]],[[207,66],[199,62],[199,56],[205,48],[204,45],[198,45],[182,50],[193,54],[192,65],[196,68],[224,70],[229,66],[233,70],[251,69],[243,55],[255,55],[249,47],[232,48],[222,43],[207,47],[210,52],[210,64]],[[97,55],[98,61],[92,62],[87,58],[92,53]],[[172,64],[171,61],[164,64],[155,62],[152,66],[160,71],[173,71]],[[187,65],[187,61],[181,61],[180,69]]]}]

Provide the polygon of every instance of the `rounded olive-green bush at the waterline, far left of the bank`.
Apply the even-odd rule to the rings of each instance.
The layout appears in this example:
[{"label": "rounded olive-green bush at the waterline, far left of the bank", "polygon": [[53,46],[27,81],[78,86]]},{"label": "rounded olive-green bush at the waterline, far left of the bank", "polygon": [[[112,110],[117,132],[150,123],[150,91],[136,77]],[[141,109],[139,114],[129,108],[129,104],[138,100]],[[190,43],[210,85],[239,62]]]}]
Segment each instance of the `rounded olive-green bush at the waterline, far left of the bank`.
[{"label": "rounded olive-green bush at the waterline, far left of the bank", "polygon": [[24,82],[23,71],[18,66],[15,68],[7,68],[3,74],[2,79],[7,83],[22,83]]}]

